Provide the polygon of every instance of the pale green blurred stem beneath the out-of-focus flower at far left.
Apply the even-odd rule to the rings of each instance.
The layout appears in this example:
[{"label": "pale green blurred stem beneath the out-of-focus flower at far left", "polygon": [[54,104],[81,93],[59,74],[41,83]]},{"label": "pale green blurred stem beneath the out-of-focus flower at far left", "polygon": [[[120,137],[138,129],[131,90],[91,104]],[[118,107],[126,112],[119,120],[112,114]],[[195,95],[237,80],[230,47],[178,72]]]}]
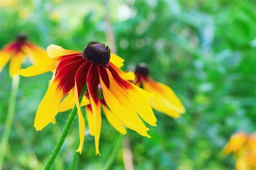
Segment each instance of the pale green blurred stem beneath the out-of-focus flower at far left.
[{"label": "pale green blurred stem beneath the out-of-focus flower at far left", "polygon": [[3,167],[5,151],[6,151],[6,147],[8,145],[8,139],[9,139],[9,135],[11,132],[11,124],[12,124],[12,120],[14,120],[14,112],[15,112],[15,104],[16,104],[18,86],[19,86],[19,76],[16,75],[12,78],[11,96],[10,96],[10,100],[9,100],[8,113],[7,113],[7,117],[6,117],[6,121],[5,121],[4,133],[3,133],[3,138],[2,138],[2,142],[1,142],[2,151],[0,152],[0,169],[2,169],[2,167]]}]

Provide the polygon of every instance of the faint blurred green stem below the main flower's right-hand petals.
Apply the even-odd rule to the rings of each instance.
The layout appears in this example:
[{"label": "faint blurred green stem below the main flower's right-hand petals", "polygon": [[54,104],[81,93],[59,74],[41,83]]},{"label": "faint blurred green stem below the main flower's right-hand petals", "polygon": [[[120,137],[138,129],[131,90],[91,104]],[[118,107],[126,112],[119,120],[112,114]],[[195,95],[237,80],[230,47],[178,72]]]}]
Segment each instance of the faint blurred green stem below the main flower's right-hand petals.
[{"label": "faint blurred green stem below the main flower's right-hand petals", "polygon": [[124,140],[124,135],[119,134],[119,138],[117,139],[116,144],[114,145],[114,148],[111,150],[111,155],[109,156],[109,159],[107,159],[107,161],[105,162],[104,166],[103,166],[103,170],[107,170],[110,168],[110,166],[113,164],[114,158],[116,158],[117,153],[123,143]]}]

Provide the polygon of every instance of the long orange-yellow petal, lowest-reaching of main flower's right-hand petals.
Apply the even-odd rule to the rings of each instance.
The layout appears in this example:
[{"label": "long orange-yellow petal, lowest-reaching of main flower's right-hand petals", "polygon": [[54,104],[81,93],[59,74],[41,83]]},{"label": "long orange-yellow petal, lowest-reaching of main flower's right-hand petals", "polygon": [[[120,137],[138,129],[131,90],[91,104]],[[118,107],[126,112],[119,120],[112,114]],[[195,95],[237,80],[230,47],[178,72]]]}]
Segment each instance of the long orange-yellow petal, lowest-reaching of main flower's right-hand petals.
[{"label": "long orange-yellow petal, lowest-reaching of main flower's right-hand petals", "polygon": [[100,84],[103,88],[104,99],[114,116],[121,121],[124,126],[138,132],[140,135],[150,138],[149,134],[147,134],[148,128],[143,124],[142,120],[122,106],[118,99],[113,96],[109,89],[107,89],[106,84],[102,79],[102,72],[100,72]]}]

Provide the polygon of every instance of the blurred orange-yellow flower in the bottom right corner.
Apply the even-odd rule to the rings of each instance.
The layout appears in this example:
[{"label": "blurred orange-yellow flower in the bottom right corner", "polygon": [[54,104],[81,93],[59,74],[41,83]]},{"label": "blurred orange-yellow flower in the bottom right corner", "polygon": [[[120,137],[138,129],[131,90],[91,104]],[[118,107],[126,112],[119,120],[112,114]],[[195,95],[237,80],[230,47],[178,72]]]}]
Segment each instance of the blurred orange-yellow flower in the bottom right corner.
[{"label": "blurred orange-yellow flower in the bottom right corner", "polygon": [[254,170],[256,168],[256,133],[249,135],[238,132],[232,135],[221,154],[234,154],[237,170]]}]

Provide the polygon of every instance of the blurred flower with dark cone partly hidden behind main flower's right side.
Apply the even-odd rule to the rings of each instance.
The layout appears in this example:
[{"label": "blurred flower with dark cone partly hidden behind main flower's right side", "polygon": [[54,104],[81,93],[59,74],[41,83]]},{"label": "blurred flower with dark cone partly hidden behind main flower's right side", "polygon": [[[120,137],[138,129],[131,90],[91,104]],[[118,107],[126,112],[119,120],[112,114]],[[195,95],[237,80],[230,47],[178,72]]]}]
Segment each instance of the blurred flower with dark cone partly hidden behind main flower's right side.
[{"label": "blurred flower with dark cone partly hidden behind main flower's right side", "polygon": [[145,91],[154,94],[153,100],[150,101],[151,106],[173,118],[178,118],[180,114],[185,113],[185,107],[173,90],[163,83],[154,81],[149,73],[149,68],[145,63],[138,64],[135,69],[136,78],[133,82]]}]

